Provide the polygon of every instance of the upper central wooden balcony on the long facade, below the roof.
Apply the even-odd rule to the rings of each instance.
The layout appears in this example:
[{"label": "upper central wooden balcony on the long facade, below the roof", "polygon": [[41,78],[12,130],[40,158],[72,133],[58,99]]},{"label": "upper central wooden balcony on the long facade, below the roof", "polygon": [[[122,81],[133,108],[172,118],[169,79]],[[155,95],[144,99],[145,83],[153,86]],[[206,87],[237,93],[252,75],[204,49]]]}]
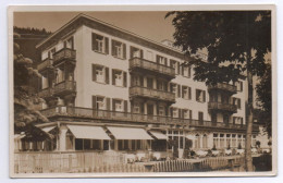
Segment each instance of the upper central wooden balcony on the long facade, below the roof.
[{"label": "upper central wooden balcony on the long facade, below the roof", "polygon": [[130,70],[131,71],[142,71],[142,72],[151,72],[155,74],[160,74],[168,78],[175,77],[175,69],[162,64],[158,64],[152,61],[148,61],[142,58],[132,58],[130,59]]}]

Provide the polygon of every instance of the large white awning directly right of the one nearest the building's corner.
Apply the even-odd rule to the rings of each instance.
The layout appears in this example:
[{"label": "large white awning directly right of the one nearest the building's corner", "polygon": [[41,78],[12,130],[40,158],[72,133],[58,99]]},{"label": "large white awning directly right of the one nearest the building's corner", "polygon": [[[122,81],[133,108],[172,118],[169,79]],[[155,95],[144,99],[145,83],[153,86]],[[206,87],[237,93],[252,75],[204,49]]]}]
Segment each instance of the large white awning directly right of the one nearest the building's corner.
[{"label": "large white awning directly right of the one nearest the building's corner", "polygon": [[137,127],[107,127],[115,139],[153,139],[144,129]]}]

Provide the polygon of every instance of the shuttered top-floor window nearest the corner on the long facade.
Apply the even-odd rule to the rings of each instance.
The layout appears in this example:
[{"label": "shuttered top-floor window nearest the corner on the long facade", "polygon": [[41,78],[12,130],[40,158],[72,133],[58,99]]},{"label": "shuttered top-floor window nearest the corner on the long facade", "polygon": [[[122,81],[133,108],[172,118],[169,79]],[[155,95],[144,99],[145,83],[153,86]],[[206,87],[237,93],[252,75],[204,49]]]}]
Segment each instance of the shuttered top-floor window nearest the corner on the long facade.
[{"label": "shuttered top-floor window nearest the corner on the long facade", "polygon": [[100,53],[109,53],[109,38],[93,33],[93,50]]}]

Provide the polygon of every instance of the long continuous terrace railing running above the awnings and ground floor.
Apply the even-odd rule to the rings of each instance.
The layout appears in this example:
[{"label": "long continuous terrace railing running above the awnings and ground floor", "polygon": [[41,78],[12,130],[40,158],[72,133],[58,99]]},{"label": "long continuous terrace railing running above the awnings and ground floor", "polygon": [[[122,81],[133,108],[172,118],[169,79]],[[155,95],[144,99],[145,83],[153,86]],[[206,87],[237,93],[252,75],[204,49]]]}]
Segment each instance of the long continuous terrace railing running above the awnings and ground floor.
[{"label": "long continuous terrace railing running above the awnings and ground floor", "polygon": [[[78,107],[54,107],[41,110],[41,113],[47,118],[51,117],[69,117],[69,118],[87,118],[95,120],[110,121],[124,121],[134,123],[147,124],[174,124],[174,125],[189,125],[195,127],[216,127],[216,129],[231,129],[231,130],[245,130],[246,125],[232,124],[223,122],[199,121],[192,119],[181,119],[161,115],[147,115],[140,113],[118,112],[108,110],[95,110],[90,108]],[[258,131],[258,126],[254,126],[254,131]]]}]

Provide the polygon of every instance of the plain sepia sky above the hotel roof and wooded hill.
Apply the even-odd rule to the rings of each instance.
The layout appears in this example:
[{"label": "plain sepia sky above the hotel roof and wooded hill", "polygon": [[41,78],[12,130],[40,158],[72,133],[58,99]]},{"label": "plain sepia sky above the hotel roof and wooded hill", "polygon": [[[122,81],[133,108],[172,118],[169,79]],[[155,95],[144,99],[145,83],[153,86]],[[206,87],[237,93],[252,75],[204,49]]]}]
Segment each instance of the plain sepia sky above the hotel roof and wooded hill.
[{"label": "plain sepia sky above the hotel roof and wooded hill", "polygon": [[167,12],[16,12],[14,26],[46,28],[46,30],[54,32],[79,13],[155,41],[173,40],[172,17],[164,19]]}]

